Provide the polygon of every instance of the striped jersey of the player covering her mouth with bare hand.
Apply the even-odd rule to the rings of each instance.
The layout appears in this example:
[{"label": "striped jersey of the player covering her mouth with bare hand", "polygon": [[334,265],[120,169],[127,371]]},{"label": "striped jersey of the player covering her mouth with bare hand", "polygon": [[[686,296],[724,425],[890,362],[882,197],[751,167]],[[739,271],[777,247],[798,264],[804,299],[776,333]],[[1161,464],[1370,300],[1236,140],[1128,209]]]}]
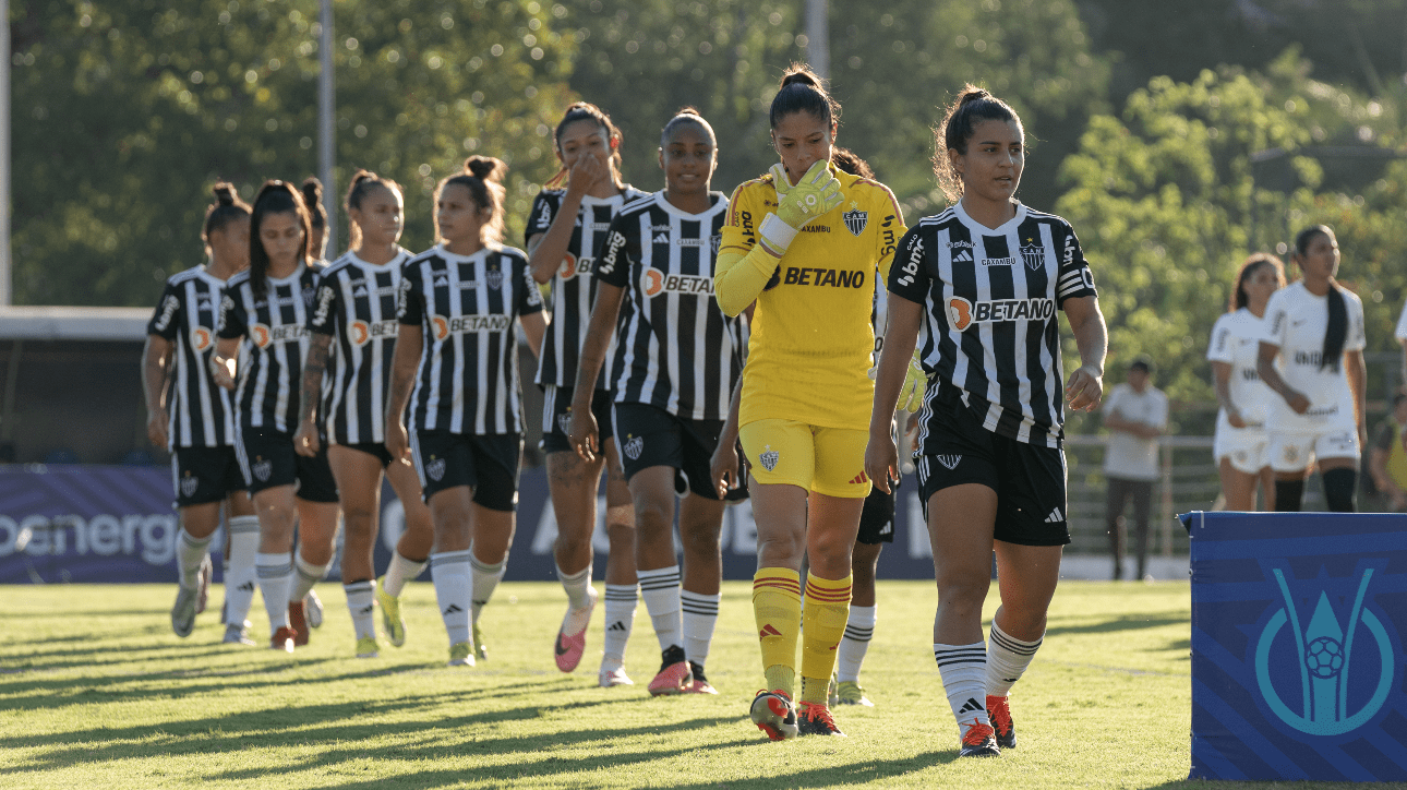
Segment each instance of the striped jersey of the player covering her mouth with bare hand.
[{"label": "striped jersey of the player covering her mouth with bare hand", "polygon": [[[601,251],[601,241],[611,228],[611,220],[626,203],[644,197],[647,193],[626,184],[620,194],[615,197],[581,199],[581,210],[577,211],[577,227],[571,231],[571,242],[567,245],[567,255],[561,259],[561,266],[552,276],[552,322],[542,342],[542,360],[537,363],[539,384],[554,384],[571,387],[577,382],[577,362],[581,355],[581,342],[587,337],[587,325],[591,322],[591,304],[597,297],[597,283],[591,276],[595,255]],[[566,199],[564,189],[545,189],[533,200],[532,214],[528,217],[528,230],[523,239],[547,232],[553,218],[561,208]],[[611,355],[597,379],[597,389],[608,389],[611,380]]]}]

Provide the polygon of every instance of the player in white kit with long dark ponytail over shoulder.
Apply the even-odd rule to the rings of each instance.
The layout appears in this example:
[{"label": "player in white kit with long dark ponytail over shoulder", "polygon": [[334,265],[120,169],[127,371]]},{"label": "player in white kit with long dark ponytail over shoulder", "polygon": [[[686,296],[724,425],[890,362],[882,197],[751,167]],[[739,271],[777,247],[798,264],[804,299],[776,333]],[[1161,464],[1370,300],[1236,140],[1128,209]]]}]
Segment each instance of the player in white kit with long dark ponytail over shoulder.
[{"label": "player in white kit with long dark ponytail over shoulder", "polygon": [[1294,237],[1293,261],[1301,279],[1266,304],[1256,360],[1261,380],[1280,396],[1271,401],[1266,444],[1275,510],[1300,510],[1313,453],[1328,508],[1352,513],[1358,460],[1368,442],[1363,303],[1334,282],[1338,239],[1327,225]]}]

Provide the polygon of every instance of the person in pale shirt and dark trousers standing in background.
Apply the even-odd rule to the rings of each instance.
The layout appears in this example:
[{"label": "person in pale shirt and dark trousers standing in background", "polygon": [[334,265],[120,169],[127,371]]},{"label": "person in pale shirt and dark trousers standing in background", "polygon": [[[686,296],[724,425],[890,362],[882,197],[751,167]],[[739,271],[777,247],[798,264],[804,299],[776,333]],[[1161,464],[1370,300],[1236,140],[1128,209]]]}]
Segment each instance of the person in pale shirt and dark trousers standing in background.
[{"label": "person in pale shirt and dark trousers standing in background", "polygon": [[1138,527],[1138,579],[1148,560],[1148,507],[1152,482],[1158,479],[1158,437],[1168,427],[1168,396],[1152,386],[1152,360],[1140,356],[1128,366],[1127,383],[1114,386],[1104,400],[1104,476],[1109,477],[1109,551],[1114,556],[1114,579],[1124,575],[1127,522],[1124,506],[1134,500]]}]

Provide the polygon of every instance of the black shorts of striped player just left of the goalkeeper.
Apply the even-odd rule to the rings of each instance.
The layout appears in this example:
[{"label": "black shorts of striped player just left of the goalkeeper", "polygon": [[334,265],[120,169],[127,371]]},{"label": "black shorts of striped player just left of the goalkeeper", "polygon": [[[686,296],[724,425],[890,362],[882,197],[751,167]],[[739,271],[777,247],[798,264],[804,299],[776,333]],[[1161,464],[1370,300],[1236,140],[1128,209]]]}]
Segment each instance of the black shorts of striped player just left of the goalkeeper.
[{"label": "black shorts of striped player just left of the goalkeeper", "polygon": [[650,466],[673,466],[677,470],[674,490],[718,500],[711,469],[722,420],[685,420],[646,403],[615,404],[615,432],[619,439],[620,465],[625,479]]}]

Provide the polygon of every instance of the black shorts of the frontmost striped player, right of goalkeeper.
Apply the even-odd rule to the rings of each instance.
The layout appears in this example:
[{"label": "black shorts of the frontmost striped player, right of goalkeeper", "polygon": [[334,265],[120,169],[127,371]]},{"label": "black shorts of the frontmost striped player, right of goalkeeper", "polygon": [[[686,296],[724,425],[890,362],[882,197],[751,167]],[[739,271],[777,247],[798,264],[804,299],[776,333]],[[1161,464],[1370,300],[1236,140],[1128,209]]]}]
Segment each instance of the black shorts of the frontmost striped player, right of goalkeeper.
[{"label": "black shorts of the frontmost striped player, right of goalkeeper", "polygon": [[[946,387],[957,393],[953,387]],[[1021,546],[1069,542],[1065,501],[1065,451],[1037,446],[988,431],[955,403],[936,399],[927,424],[929,448],[919,459],[919,499],[929,517],[929,499],[948,486],[978,483],[996,491],[998,541]]]}]

